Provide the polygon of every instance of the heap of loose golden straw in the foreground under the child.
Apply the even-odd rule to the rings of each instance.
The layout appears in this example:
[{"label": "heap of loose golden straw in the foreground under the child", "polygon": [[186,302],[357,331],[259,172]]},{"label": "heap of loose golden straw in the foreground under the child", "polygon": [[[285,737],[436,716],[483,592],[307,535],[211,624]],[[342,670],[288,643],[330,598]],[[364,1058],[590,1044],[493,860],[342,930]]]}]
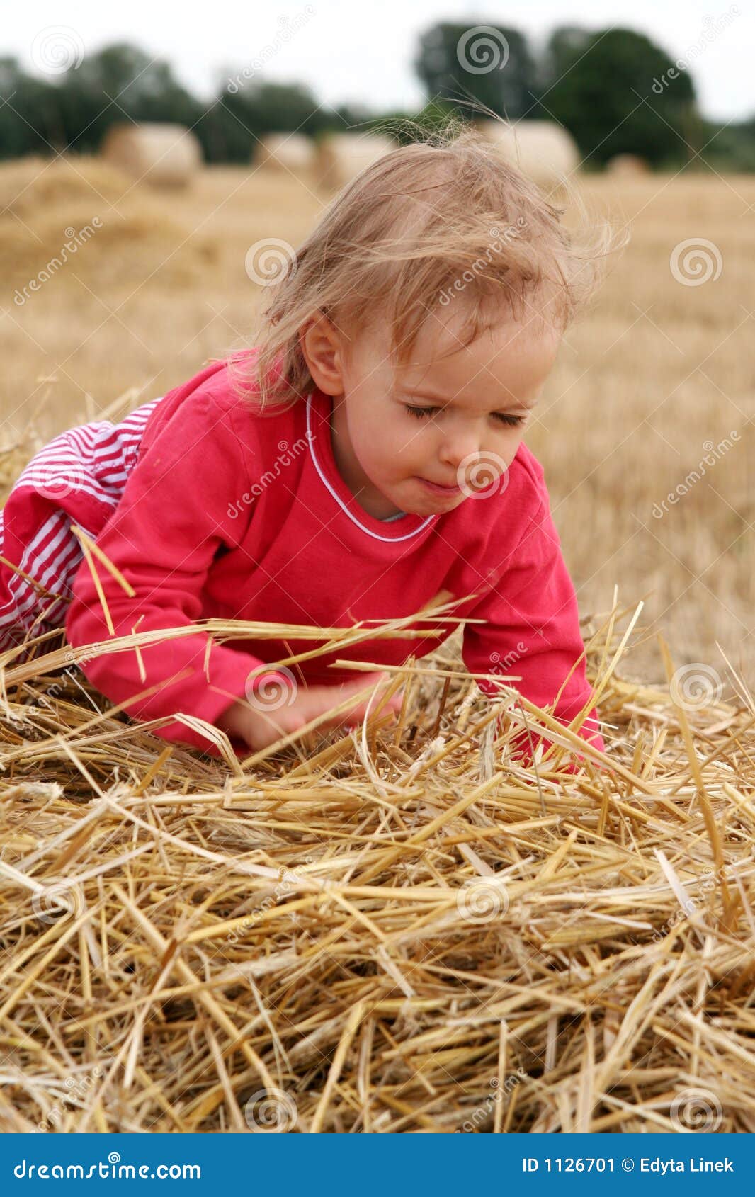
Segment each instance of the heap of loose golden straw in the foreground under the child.
[{"label": "heap of loose golden straw in the foreground under the child", "polygon": [[6,654],[0,1129],[755,1131],[754,716],[620,676],[626,618],[599,773],[507,762],[453,637],[243,768]]}]

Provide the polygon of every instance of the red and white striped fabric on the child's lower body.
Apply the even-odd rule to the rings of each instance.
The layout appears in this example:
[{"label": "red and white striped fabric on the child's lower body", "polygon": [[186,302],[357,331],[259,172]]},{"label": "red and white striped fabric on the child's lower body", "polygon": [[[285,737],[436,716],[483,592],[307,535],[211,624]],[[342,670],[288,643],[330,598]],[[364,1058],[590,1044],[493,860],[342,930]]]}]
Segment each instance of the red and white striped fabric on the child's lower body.
[{"label": "red and white striped fabric on the child's lower body", "polygon": [[[139,456],[150,415],[164,396],[120,424],[95,420],[61,432],[29,462],[0,511],[0,651],[66,621],[81,546],[115,511]],[[24,575],[28,575],[25,577]],[[38,590],[32,581],[43,588]]]}]

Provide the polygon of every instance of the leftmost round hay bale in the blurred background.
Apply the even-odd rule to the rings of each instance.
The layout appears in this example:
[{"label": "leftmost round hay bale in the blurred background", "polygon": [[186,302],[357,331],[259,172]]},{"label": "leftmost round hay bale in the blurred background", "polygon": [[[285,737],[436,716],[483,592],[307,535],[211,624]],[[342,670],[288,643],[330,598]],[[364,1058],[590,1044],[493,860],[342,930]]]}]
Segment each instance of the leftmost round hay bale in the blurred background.
[{"label": "leftmost round hay bale in the blurred background", "polygon": [[153,187],[185,187],[202,165],[201,146],[183,124],[114,124],[101,153]]}]

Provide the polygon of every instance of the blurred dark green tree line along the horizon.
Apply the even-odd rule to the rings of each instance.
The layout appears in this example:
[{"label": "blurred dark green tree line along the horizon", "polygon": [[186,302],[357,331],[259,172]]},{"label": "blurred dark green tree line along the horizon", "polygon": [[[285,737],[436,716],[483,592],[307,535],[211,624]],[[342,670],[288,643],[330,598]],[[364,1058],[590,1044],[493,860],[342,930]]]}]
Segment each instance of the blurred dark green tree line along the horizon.
[{"label": "blurred dark green tree line along the horizon", "polygon": [[[705,49],[701,43],[696,53]],[[0,158],[96,153],[111,124],[130,120],[184,124],[207,162],[248,163],[268,133],[296,129],[317,138],[379,128],[401,141],[409,135],[401,126],[407,117],[432,128],[446,114],[468,120],[486,109],[507,120],[558,121],[587,169],[631,153],[659,169],[755,170],[755,116],[726,126],[705,119],[689,69],[693,50],[675,61],[635,30],[570,25],[535,53],[524,34],[505,25],[439,22],[415,49],[426,93],[419,113],[323,105],[309,87],[267,81],[256,69],[229,72],[208,102],[183,87],[169,62],[130,43],[108,45],[47,77],[5,57]]]}]

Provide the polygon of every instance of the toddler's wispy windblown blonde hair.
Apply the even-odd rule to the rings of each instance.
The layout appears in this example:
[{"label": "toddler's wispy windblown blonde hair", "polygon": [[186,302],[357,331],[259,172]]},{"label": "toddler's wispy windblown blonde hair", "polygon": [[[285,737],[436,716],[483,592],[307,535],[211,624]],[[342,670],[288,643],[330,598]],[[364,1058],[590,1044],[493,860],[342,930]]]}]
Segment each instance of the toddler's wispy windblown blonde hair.
[{"label": "toddler's wispy windblown blonde hair", "polygon": [[319,312],[352,341],[385,321],[401,364],[432,306],[457,294],[469,308],[462,329],[469,345],[500,322],[501,308],[520,318],[536,297],[562,330],[599,285],[614,236],[590,220],[567,180],[560,199],[573,202],[577,231],[561,223],[566,205],[556,207],[465,122],[450,117],[431,133],[404,126],[421,140],[352,180],[272,284],[258,353],[246,357],[238,379],[258,411],[269,403],[281,411],[313,389],[299,333]]}]

